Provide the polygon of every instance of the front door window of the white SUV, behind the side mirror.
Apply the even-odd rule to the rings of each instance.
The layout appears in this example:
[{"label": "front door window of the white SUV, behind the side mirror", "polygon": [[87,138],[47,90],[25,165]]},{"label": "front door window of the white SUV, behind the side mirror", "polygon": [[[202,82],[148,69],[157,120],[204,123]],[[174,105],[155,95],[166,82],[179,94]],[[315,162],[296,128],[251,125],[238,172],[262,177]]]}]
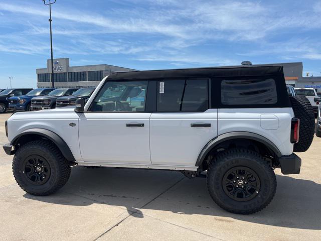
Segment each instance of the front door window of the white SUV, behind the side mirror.
[{"label": "front door window of the white SUV, behind the side mirror", "polygon": [[143,112],[147,81],[106,82],[89,111]]}]

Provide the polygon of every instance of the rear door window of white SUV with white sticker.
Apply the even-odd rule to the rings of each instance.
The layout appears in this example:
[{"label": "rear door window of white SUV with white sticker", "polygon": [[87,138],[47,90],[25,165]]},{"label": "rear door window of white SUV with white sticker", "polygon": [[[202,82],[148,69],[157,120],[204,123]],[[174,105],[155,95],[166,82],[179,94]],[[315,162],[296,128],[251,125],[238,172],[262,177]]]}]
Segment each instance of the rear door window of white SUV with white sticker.
[{"label": "rear door window of white SUV with white sticker", "polygon": [[203,112],[208,108],[207,79],[157,81],[158,112]]}]

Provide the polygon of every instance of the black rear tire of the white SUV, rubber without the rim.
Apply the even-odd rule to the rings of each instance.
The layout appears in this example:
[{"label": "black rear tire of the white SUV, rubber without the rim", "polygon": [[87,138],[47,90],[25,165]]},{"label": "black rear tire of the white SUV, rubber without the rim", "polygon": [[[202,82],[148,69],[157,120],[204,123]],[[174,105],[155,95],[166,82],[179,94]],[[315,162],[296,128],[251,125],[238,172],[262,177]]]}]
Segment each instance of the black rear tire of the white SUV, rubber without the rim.
[{"label": "black rear tire of the white SUV, rubber without the rim", "polygon": [[[253,170],[260,181],[260,189],[251,200],[233,200],[223,189],[224,175],[236,167]],[[208,191],[221,208],[238,214],[251,214],[265,208],[276,191],[276,178],[271,166],[254,151],[233,148],[219,153],[207,171]]]}]

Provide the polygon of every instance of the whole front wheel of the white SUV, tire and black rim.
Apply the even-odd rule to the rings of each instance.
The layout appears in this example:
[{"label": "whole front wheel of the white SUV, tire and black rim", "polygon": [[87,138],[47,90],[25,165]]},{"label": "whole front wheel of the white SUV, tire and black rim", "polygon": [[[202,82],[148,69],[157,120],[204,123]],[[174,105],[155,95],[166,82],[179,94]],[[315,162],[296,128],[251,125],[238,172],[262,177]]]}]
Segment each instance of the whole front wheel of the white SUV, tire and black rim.
[{"label": "whole front wheel of the white SUV, tire and black rim", "polygon": [[46,196],[65,185],[71,167],[51,142],[38,140],[21,146],[12,169],[18,185],[27,193]]}]

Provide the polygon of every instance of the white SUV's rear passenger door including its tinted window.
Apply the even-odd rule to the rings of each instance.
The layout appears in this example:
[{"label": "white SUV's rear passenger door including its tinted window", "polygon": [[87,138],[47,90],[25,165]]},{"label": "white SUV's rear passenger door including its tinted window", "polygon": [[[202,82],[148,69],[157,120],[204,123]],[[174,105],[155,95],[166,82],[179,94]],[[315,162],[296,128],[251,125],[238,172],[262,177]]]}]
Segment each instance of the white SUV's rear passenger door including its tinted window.
[{"label": "white SUV's rear passenger door including its tinted window", "polygon": [[195,166],[217,136],[217,109],[209,102],[208,79],[157,81],[157,112],[150,116],[153,165]]}]

